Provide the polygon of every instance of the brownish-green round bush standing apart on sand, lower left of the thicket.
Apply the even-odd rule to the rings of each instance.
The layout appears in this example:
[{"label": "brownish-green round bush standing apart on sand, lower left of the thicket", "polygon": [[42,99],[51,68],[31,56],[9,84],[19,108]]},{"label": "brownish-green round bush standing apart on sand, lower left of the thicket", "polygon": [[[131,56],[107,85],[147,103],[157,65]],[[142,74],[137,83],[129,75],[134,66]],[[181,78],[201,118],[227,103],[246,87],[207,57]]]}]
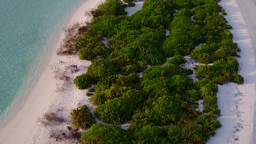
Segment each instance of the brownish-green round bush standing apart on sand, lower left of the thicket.
[{"label": "brownish-green round bush standing apart on sand, lower left of the thicket", "polygon": [[86,130],[96,123],[96,120],[86,105],[81,108],[72,109],[70,114],[71,124],[75,127]]}]

